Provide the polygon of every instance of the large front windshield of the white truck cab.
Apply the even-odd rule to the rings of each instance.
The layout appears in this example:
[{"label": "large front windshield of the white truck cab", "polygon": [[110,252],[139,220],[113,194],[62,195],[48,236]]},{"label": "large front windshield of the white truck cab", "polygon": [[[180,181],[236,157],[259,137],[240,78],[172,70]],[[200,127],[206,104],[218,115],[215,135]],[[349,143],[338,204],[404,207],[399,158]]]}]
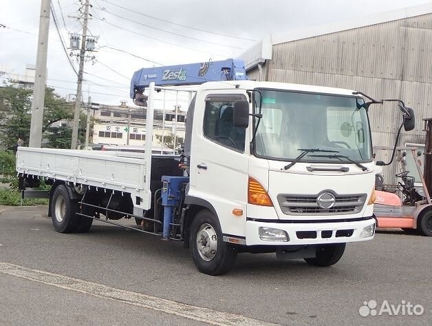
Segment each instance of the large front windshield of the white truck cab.
[{"label": "large front windshield of the white truck cab", "polygon": [[[369,120],[361,106],[363,99],[262,89],[254,94],[255,113],[259,113],[262,103],[258,126],[255,118],[257,156],[292,161],[302,149],[319,148],[337,151],[352,161],[371,161]],[[341,162],[310,155],[301,161]]]}]

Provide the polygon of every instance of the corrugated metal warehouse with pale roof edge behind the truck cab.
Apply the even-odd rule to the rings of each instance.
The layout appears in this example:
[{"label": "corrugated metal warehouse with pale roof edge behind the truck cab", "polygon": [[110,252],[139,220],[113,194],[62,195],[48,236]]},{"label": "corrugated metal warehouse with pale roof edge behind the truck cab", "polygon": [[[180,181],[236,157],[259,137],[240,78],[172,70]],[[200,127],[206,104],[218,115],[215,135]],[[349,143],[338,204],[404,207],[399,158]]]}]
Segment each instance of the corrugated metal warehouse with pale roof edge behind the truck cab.
[{"label": "corrugated metal warehouse with pale roof edge behind the truck cab", "polygon": [[[402,99],[415,130],[398,145],[425,142],[422,119],[432,117],[432,4],[358,20],[272,34],[246,51],[249,79],[347,88],[375,99]],[[372,105],[374,146],[392,146],[402,116],[395,105]],[[420,148],[422,149],[422,148]],[[390,152],[377,153],[388,161]],[[386,176],[394,175],[396,165]]]}]

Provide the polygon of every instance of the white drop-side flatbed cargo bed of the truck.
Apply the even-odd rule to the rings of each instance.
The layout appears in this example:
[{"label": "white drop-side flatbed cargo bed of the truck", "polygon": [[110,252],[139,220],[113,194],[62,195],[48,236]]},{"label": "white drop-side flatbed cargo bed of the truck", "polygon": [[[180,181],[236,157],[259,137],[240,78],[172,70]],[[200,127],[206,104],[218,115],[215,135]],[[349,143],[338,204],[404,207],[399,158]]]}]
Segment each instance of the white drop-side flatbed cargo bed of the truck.
[{"label": "white drop-side flatbed cargo bed of the truck", "polygon": [[[152,161],[180,156],[153,154]],[[159,166],[158,166],[159,165]],[[172,165],[159,167],[170,173]],[[100,187],[118,192],[127,192],[133,198],[133,205],[143,210],[151,207],[151,181],[146,180],[147,168],[151,168],[143,153],[104,152],[85,150],[59,150],[51,148],[19,147],[17,151],[17,172],[23,175],[41,176],[45,179]],[[154,173],[156,174],[156,173]],[[157,173],[160,174],[160,173]],[[160,176],[154,176],[156,179]],[[136,197],[141,198],[136,200]]]}]

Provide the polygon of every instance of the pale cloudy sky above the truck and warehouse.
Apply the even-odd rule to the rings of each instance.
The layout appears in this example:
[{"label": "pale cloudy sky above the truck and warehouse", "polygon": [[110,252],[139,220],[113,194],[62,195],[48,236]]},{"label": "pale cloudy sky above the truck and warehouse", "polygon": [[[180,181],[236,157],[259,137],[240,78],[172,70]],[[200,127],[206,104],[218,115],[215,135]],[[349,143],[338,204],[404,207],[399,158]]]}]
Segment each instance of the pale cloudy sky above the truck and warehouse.
[{"label": "pale cloudy sky above the truck and warehouse", "polygon": [[[84,3],[84,0],[81,0]],[[80,1],[52,0],[58,30],[81,33]],[[116,105],[129,99],[133,72],[140,68],[241,58],[268,34],[358,19],[432,0],[90,0],[89,34],[98,37],[94,61],[85,63],[83,98]],[[25,74],[36,63],[39,0],[1,0],[0,70]],[[4,26],[4,27],[3,27]],[[47,85],[61,96],[76,94],[76,74],[61,45],[53,17]],[[78,70],[76,57],[72,64]],[[74,96],[74,95],[70,95]]]}]

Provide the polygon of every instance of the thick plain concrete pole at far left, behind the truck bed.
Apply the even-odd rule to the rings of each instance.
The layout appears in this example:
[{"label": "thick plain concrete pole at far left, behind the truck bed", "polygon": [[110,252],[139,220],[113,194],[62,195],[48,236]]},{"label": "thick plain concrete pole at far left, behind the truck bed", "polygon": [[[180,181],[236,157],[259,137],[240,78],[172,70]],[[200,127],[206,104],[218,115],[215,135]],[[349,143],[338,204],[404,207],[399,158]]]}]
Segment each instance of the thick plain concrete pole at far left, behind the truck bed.
[{"label": "thick plain concrete pole at far left, behind the truck bed", "polygon": [[41,1],[41,19],[39,21],[39,39],[34,76],[32,122],[30,124],[30,147],[41,147],[43,108],[45,105],[45,83],[47,80],[48,34],[50,32],[51,0]]}]

